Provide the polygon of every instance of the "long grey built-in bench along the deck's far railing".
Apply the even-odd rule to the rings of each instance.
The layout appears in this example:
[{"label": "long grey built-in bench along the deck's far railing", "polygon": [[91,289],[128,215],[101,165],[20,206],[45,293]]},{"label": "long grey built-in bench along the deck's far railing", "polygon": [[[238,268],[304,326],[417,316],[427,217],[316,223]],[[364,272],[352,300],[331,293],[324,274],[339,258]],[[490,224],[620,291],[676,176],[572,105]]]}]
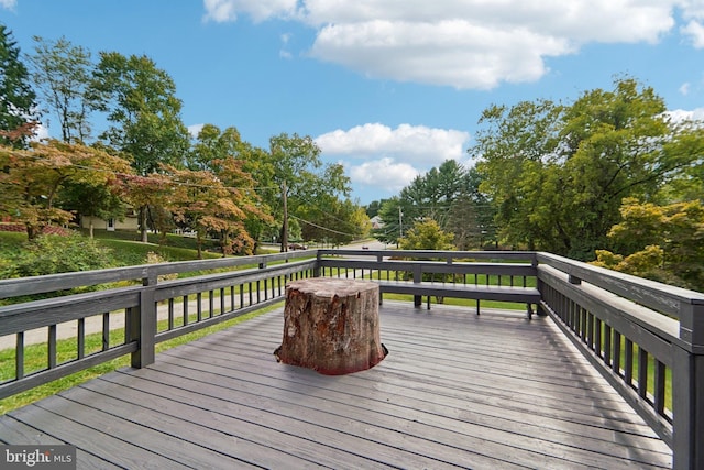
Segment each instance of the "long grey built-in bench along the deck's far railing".
[{"label": "long grey built-in bench along the deck's far railing", "polygon": [[[422,296],[430,297],[470,298],[476,300],[476,315],[480,315],[481,300],[512,302],[526,304],[528,318],[532,318],[532,305],[540,303],[540,292],[534,287],[453,284],[438,282],[415,283],[411,281],[377,281],[380,294],[408,294],[416,298],[416,306],[422,303]],[[381,296],[380,296],[381,299]]]}]

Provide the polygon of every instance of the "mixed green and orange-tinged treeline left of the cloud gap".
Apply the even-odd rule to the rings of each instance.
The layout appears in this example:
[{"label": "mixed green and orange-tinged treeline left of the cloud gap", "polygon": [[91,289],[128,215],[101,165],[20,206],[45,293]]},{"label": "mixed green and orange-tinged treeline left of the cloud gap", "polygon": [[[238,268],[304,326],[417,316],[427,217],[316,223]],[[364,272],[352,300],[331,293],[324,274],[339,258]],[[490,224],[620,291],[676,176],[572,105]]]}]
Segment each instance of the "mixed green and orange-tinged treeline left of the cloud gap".
[{"label": "mixed green and orange-tinged treeline left of the cloud gap", "polygon": [[[0,24],[0,218],[23,225],[30,240],[47,226],[128,211],[139,215],[143,241],[148,230],[165,238],[180,228],[199,249],[217,239],[224,254],[369,231],[342,166],[323,164],[310,136],[282,133],[261,149],[235,127],[205,124],[194,138],[175,83],[147,56],[94,59],[64,37],[35,37],[21,55]],[[61,139],[34,139],[43,116]]]}]

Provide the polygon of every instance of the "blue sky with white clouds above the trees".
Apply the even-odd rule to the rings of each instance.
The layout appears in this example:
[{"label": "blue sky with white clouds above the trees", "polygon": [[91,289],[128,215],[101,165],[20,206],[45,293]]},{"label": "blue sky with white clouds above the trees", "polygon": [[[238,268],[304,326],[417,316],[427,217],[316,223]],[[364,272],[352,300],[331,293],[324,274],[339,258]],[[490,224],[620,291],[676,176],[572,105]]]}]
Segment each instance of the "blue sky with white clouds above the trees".
[{"label": "blue sky with white clouds above the trees", "polygon": [[0,22],[25,54],[37,35],[96,61],[147,55],[191,129],[263,147],[310,135],[362,204],[447,159],[471,165],[492,103],[570,102],[628,75],[704,117],[703,0],[0,0]]}]

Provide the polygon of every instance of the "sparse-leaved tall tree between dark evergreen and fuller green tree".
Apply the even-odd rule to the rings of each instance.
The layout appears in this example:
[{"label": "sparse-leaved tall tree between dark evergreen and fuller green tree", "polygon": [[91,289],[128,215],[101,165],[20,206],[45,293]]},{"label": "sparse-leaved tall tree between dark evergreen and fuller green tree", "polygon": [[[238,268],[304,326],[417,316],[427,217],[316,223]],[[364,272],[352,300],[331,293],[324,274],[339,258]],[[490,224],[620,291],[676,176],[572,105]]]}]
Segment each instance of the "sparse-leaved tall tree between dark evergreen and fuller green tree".
[{"label": "sparse-leaved tall tree between dark evergreen and fuller green tree", "polygon": [[89,86],[92,76],[90,52],[74,46],[66,37],[46,41],[34,36],[32,76],[43,102],[58,119],[64,142],[86,142],[90,138],[89,114],[95,107]]}]

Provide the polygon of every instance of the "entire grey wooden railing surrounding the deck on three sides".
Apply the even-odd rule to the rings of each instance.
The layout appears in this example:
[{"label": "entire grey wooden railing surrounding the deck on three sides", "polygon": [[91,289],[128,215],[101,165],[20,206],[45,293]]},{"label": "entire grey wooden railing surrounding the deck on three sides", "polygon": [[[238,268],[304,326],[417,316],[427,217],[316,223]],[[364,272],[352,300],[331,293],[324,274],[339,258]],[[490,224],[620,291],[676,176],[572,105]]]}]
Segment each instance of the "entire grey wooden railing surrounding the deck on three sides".
[{"label": "entire grey wooden railing surrounding the deck on three sides", "polygon": [[[176,274],[189,277],[168,280]],[[416,306],[421,295],[459,296],[479,314],[480,300],[518,298],[530,314],[532,303],[670,445],[674,468],[704,468],[704,294],[540,252],[308,250],[0,281],[0,298],[15,300],[102,286],[0,307],[15,364],[0,398],[124,354],[147,365],[160,341],[279,302],[287,281],[320,275],[373,280]],[[65,328],[75,330],[68,352],[57,347]],[[26,364],[29,348],[43,348],[44,363]]]}]

